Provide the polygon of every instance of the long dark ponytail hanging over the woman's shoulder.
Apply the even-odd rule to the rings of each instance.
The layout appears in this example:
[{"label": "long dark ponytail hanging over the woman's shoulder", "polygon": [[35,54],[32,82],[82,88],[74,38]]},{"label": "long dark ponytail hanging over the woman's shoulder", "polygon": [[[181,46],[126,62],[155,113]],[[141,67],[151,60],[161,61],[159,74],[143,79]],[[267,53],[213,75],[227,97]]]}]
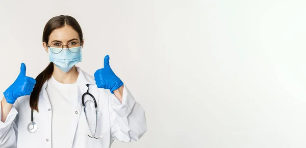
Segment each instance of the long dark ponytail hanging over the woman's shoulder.
[{"label": "long dark ponytail hanging over the woman's shoulder", "polygon": [[54,65],[52,62],[36,77],[35,87],[30,95],[30,107],[38,112],[38,98],[43,84],[52,77]]}]

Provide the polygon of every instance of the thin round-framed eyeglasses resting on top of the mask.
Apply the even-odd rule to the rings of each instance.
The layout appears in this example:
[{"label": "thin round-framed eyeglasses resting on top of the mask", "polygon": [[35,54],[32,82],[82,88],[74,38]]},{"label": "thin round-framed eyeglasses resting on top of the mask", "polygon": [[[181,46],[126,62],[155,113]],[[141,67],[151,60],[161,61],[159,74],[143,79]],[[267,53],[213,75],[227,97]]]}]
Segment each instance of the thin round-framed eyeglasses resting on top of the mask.
[{"label": "thin round-framed eyeglasses resting on top of the mask", "polygon": [[[64,46],[67,46],[67,48],[64,48]],[[50,51],[54,54],[58,54],[63,51],[63,49],[68,49],[71,53],[78,53],[81,49],[82,44],[79,42],[70,42],[68,45],[62,45],[59,42],[54,42],[50,45],[47,45],[47,47],[50,48]]]}]

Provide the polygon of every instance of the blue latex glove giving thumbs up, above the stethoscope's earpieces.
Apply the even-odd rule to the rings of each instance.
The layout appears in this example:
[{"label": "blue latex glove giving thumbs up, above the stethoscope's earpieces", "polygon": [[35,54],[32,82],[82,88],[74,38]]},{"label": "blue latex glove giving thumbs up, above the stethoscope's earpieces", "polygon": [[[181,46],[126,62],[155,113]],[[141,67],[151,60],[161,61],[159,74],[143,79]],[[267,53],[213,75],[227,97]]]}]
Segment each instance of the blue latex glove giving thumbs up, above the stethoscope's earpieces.
[{"label": "blue latex glove giving thumbs up, above the stethoscope's earpieces", "polygon": [[109,55],[104,58],[104,68],[98,69],[93,76],[98,88],[110,89],[111,93],[123,85],[110,67]]}]

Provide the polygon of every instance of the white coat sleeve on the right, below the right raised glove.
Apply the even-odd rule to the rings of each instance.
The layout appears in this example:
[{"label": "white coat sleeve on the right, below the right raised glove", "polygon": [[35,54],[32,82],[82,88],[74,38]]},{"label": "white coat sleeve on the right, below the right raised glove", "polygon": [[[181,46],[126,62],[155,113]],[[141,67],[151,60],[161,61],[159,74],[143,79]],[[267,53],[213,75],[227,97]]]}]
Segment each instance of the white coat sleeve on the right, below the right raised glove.
[{"label": "white coat sleeve on the right, below the right raised glove", "polygon": [[139,140],[146,132],[146,118],[143,108],[135,102],[127,87],[123,86],[122,103],[110,93],[111,142]]}]

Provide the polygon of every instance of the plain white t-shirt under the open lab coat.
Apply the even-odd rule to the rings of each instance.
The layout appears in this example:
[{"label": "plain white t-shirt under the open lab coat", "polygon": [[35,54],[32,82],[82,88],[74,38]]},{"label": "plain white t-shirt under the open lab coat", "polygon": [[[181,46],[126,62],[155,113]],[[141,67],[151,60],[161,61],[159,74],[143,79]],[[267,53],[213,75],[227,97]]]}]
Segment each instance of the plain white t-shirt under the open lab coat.
[{"label": "plain white t-shirt under the open lab coat", "polygon": [[78,84],[63,84],[52,76],[47,81],[47,94],[52,107],[52,148],[69,147],[71,137],[71,113],[78,102]]}]

